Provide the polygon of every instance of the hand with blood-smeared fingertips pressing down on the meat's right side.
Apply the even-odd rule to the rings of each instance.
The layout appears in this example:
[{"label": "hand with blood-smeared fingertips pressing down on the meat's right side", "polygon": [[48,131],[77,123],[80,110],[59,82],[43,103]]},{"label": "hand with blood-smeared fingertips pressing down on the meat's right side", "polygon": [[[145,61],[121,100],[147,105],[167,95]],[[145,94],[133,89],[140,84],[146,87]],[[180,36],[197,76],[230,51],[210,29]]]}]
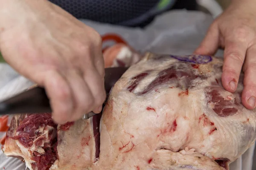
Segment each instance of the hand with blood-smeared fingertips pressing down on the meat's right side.
[{"label": "hand with blood-smeared fingertips pressing down on the meat's right side", "polygon": [[222,84],[234,92],[244,71],[242,103],[255,108],[256,97],[256,3],[254,0],[233,0],[233,3],[209,27],[195,54],[213,55],[224,48]]}]

